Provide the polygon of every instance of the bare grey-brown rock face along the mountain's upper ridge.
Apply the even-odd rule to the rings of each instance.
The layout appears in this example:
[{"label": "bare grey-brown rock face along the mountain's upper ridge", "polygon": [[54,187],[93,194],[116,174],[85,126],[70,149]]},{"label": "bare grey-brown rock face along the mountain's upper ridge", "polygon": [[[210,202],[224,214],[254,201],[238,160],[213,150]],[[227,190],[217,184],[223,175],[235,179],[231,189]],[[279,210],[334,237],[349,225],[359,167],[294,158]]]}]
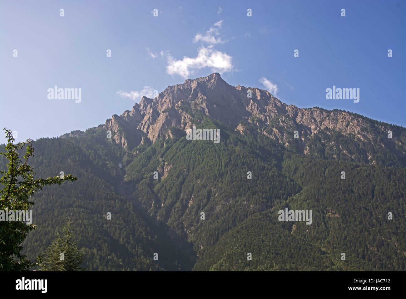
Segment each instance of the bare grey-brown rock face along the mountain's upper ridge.
[{"label": "bare grey-brown rock face along the mountain's upper ridge", "polygon": [[[251,97],[249,97],[251,94]],[[249,125],[268,137],[289,146],[294,131],[298,131],[302,153],[309,154],[309,143],[320,137],[322,132],[334,132],[350,136],[354,142],[367,142],[372,156],[375,147],[389,148],[392,153],[405,159],[406,131],[403,127],[377,122],[354,113],[318,107],[300,109],[286,105],[268,91],[244,86],[231,86],[220,74],[186,80],[183,84],[168,86],[156,98],[143,97],[132,110],[121,116],[113,115],[104,127],[114,132],[114,141],[131,150],[148,138],[155,142],[171,126],[185,130],[192,127],[194,112],[204,113],[220,120],[243,134]],[[190,113],[192,112],[192,113]],[[393,139],[387,137],[391,130]],[[319,140],[318,142],[324,142]],[[337,151],[348,155],[334,143],[326,141],[325,146],[337,147]],[[374,163],[374,161],[369,161]]]}]

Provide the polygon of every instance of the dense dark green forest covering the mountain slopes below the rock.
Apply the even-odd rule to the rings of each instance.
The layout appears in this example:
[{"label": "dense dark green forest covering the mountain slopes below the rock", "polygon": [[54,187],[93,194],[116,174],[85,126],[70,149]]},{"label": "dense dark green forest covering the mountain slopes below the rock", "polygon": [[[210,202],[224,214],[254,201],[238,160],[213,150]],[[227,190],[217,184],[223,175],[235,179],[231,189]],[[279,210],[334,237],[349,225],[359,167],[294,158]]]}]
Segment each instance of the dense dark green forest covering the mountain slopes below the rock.
[{"label": "dense dark green forest covering the mountain slopes below the rock", "polygon": [[[295,140],[285,147],[248,122],[241,134],[193,117],[197,127],[219,128],[220,143],[170,127],[153,144],[122,148],[102,125],[33,142],[38,177],[63,171],[78,180],[33,197],[37,229],[24,253],[35,260],[70,218],[93,271],[405,270],[404,161],[376,152],[377,164],[367,163],[365,148],[327,129],[304,155]],[[312,210],[312,224],[279,221],[286,207]]]}]

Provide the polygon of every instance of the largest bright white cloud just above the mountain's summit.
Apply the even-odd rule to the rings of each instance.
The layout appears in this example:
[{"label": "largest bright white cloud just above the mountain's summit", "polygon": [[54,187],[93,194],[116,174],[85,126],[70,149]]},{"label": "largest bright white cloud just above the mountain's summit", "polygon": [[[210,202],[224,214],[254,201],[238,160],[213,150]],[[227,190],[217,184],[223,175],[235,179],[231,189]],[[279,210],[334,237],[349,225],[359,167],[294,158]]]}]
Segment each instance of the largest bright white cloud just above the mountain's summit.
[{"label": "largest bright white cloud just above the mountain's summit", "polygon": [[174,75],[178,74],[187,79],[194,70],[201,68],[212,68],[213,72],[230,72],[233,70],[233,57],[227,55],[225,52],[214,50],[213,46],[207,48],[202,46],[198,49],[197,57],[190,58],[184,56],[181,60],[174,59],[168,55],[168,65],[166,65],[166,72]]}]

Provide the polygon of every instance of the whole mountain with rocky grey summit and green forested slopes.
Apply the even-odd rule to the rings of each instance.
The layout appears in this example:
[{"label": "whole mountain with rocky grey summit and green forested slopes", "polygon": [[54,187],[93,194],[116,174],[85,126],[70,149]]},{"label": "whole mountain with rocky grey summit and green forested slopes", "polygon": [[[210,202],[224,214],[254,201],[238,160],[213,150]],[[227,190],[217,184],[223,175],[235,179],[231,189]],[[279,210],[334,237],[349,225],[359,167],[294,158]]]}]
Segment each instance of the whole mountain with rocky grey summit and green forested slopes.
[{"label": "whole mountain with rocky grey summit and green forested slopes", "polygon": [[[220,142],[188,140],[193,127]],[[38,177],[78,180],[34,196],[24,250],[43,252],[70,217],[90,270],[404,271],[405,140],[403,127],[286,105],[218,73],[186,80],[33,143]],[[286,208],[311,221],[280,221]]]}]

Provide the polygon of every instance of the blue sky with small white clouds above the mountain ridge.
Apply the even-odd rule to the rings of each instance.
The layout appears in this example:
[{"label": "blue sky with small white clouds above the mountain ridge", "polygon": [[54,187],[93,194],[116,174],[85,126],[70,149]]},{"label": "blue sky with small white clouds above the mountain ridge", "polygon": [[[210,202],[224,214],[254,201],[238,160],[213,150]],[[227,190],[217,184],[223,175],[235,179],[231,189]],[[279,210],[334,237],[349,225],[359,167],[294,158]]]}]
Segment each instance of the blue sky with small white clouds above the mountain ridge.
[{"label": "blue sky with small white clouds above the mountain ridge", "polygon": [[[0,126],[16,141],[85,130],[219,72],[288,105],[406,127],[405,17],[399,0],[2,1]],[[81,102],[48,99],[54,85],[81,88]],[[333,85],[359,88],[360,101],[326,99]]]}]

